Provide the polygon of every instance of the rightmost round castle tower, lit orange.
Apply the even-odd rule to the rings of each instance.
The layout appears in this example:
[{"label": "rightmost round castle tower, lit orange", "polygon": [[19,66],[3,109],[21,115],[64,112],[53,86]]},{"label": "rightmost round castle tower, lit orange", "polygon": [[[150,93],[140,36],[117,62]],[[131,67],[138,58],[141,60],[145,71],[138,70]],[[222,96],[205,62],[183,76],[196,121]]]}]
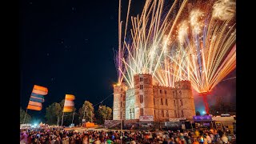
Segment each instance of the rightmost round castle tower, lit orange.
[{"label": "rightmost round castle tower, lit orange", "polygon": [[190,81],[175,82],[178,117],[192,119],[195,115],[194,96]]}]

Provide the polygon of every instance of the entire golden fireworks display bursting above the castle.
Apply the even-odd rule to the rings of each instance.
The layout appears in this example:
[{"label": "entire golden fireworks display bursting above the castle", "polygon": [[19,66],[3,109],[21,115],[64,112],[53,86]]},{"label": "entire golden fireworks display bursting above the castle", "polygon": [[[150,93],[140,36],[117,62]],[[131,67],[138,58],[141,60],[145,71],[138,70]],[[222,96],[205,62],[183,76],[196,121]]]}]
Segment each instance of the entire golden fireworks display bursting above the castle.
[{"label": "entire golden fireworks display bursting above the castle", "polygon": [[212,90],[236,66],[235,3],[220,0],[188,6],[186,0],[175,0],[163,13],[164,3],[146,1],[141,16],[130,18],[127,42],[129,1],[123,42],[120,19],[118,23],[118,82],[124,78],[132,88],[135,74],[152,74],[162,86],[190,80],[199,93]]}]

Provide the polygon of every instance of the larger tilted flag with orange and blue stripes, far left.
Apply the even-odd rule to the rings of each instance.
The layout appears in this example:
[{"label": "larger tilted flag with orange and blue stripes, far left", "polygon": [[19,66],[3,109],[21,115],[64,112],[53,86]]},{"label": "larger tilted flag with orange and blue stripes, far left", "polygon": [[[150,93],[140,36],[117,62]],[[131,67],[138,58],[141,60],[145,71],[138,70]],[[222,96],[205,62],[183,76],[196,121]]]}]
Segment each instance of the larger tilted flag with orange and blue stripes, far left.
[{"label": "larger tilted flag with orange and blue stripes, far left", "polygon": [[46,94],[48,94],[46,87],[34,85],[27,109],[42,110],[42,102],[45,102],[44,95]]}]

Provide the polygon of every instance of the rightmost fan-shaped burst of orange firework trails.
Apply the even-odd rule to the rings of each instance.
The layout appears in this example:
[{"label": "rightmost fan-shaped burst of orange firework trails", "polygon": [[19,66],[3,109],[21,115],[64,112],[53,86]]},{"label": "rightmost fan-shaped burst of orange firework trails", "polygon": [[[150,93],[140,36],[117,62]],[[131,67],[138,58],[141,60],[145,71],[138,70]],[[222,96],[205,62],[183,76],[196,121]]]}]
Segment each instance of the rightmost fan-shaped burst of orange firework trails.
[{"label": "rightmost fan-shaped burst of orange firework trails", "polygon": [[[232,24],[230,20],[222,23],[214,20],[210,20],[210,22],[213,23],[209,23],[208,29],[203,29],[203,43],[200,50],[198,50],[200,44],[197,42],[199,40],[197,38],[190,38],[189,43],[185,44],[186,49],[198,51],[198,55],[192,54],[186,57],[184,62],[191,62],[188,65],[191,77],[188,79],[194,90],[199,93],[212,90],[222,78],[234,70],[236,62],[235,24]],[[193,31],[190,33],[193,37],[198,37],[197,34],[193,34]]]}]

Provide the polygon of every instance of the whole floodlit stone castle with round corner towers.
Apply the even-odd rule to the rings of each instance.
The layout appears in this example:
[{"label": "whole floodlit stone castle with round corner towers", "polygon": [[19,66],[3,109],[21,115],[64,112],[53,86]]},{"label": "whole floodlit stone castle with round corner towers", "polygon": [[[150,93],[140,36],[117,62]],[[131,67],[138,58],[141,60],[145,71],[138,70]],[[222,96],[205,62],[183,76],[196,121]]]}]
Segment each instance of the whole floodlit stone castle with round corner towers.
[{"label": "whole floodlit stone castle with round corner towers", "polygon": [[153,116],[156,122],[169,118],[192,119],[195,109],[191,83],[180,81],[174,86],[153,85],[151,74],[134,75],[132,89],[127,89],[125,83],[114,86],[113,120],[121,120],[121,115],[122,120]]}]

